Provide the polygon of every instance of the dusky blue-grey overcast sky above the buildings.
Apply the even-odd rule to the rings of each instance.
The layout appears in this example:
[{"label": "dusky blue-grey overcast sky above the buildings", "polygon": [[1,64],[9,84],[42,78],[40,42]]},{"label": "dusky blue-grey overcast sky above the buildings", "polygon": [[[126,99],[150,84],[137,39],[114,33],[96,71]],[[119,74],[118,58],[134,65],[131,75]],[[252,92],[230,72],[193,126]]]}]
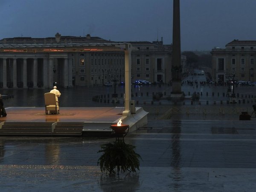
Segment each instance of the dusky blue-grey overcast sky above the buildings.
[{"label": "dusky blue-grey overcast sky above the buildings", "polygon": [[[61,35],[172,43],[172,0],[0,0],[0,39]],[[181,49],[256,40],[256,0],[180,0]]]}]

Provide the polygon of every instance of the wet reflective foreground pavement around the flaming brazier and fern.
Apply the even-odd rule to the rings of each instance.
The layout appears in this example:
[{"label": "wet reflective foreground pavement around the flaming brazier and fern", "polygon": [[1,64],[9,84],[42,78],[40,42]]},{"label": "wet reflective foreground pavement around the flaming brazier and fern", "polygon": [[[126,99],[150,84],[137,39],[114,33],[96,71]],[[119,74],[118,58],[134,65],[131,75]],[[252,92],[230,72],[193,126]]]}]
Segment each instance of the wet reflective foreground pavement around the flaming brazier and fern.
[{"label": "wet reflective foreground pavement around the flaming brazier and fern", "polygon": [[140,171],[109,177],[97,151],[113,138],[1,137],[0,186],[6,191],[253,192],[254,121],[149,120],[125,142]]}]

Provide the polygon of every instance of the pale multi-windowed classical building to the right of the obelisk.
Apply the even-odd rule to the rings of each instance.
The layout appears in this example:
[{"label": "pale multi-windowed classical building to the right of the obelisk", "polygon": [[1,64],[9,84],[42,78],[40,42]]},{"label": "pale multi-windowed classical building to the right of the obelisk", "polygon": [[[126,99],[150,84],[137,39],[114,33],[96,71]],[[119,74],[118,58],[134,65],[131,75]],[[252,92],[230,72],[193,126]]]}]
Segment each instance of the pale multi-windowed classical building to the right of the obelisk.
[{"label": "pale multi-windowed classical building to the right of the obelisk", "polygon": [[256,41],[233,40],[212,49],[212,81],[256,81]]}]

